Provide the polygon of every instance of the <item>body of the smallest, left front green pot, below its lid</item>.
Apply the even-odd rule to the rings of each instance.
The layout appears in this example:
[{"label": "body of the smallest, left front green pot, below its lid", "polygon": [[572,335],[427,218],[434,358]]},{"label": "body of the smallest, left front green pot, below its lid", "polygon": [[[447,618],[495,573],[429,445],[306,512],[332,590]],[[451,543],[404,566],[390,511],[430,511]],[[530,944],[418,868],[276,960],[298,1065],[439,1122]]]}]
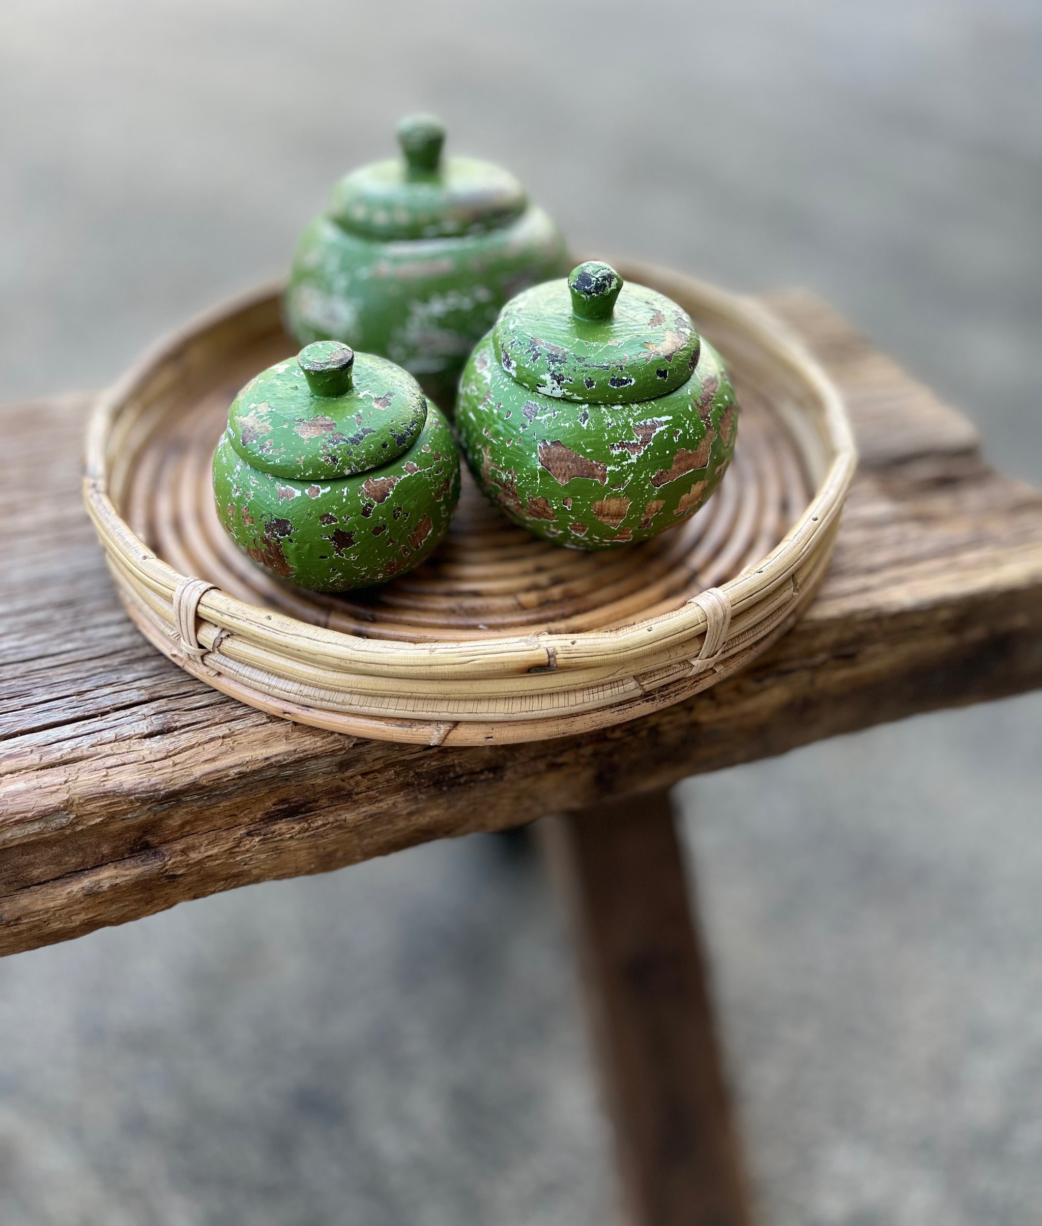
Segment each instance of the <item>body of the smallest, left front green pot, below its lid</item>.
[{"label": "body of the smallest, left front green pot, below its lid", "polygon": [[460,461],[430,403],[407,451],[343,478],[276,477],[248,463],[226,432],[213,497],[224,530],[255,562],[311,591],[338,592],[385,582],[439,544],[460,497]]}]

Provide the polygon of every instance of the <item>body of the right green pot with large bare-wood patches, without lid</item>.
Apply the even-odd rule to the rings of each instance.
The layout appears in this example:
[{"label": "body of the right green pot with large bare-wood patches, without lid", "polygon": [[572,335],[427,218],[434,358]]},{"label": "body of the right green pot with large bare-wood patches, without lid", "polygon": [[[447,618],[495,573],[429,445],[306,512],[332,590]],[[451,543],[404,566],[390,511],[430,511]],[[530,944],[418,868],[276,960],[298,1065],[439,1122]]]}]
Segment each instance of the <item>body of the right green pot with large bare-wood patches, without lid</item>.
[{"label": "body of the right green pot with large bare-wood patches, without lid", "polygon": [[489,333],[463,370],[456,429],[482,490],[510,519],[555,544],[609,549],[705,503],[731,462],[738,405],[705,340],[667,395],[582,405],[517,384]]}]

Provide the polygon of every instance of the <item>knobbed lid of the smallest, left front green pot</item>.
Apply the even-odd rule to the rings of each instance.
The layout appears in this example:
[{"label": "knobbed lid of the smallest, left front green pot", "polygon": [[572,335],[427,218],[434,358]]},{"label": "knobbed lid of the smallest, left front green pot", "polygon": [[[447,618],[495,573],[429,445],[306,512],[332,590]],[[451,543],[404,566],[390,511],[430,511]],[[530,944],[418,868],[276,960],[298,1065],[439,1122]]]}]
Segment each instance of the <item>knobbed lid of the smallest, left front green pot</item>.
[{"label": "knobbed lid of the smallest, left front green pot", "polygon": [[315,341],[246,384],[228,409],[228,435],[254,468],[329,481],[397,459],[425,421],[427,400],[401,367]]}]

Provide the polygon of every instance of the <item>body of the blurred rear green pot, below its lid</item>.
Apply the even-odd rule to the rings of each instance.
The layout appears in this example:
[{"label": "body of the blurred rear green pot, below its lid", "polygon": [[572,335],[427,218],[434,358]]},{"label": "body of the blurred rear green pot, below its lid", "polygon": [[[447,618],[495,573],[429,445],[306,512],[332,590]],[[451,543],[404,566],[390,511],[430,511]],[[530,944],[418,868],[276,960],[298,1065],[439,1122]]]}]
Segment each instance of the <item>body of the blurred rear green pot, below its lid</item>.
[{"label": "body of the blurred rear green pot, below its lid", "polygon": [[500,308],[566,266],[560,230],[534,205],[500,228],[398,242],[324,215],[297,245],[286,326],[302,343],[338,340],[390,358],[451,412],[460,371]]}]

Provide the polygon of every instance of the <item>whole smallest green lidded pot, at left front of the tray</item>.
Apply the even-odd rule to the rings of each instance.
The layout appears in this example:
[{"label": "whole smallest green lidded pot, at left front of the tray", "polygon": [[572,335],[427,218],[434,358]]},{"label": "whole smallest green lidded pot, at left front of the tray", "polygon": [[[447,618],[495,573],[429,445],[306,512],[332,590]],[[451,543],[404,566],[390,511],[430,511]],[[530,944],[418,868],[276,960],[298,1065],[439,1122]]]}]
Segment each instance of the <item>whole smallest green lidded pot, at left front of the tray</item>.
[{"label": "whole smallest green lidded pot, at left front of the tray", "polygon": [[381,584],[423,562],[458,497],[445,417],[412,375],[337,341],[246,384],[213,456],[232,539],[316,592]]}]

